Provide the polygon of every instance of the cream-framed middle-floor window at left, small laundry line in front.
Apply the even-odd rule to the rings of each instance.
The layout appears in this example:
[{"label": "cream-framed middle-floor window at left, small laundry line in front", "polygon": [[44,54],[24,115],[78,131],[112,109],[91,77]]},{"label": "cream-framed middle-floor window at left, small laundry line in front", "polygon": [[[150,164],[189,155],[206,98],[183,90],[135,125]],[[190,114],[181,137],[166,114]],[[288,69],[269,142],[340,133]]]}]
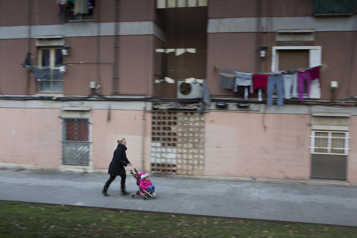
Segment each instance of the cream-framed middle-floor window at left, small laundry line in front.
[{"label": "cream-framed middle-floor window at left, small laundry line in front", "polygon": [[38,65],[48,74],[37,79],[37,91],[63,91],[63,73],[60,72],[62,65],[62,48],[40,48]]}]

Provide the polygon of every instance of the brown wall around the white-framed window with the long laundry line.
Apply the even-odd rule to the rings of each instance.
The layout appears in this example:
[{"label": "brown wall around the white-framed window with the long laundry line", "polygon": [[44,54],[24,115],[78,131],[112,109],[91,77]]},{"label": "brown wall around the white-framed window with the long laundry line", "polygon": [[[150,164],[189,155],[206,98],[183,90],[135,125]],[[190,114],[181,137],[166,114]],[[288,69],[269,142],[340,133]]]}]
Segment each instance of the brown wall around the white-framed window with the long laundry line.
[{"label": "brown wall around the white-framed window with the long laundry line", "polygon": [[[357,54],[357,47],[352,51],[353,34],[357,32],[316,32],[313,42],[285,42],[276,44],[275,33],[262,34],[262,45],[268,45],[267,56],[259,58],[263,72],[271,72],[271,47],[272,46],[321,46],[321,98],[331,98],[330,81],[338,81],[339,88],[336,98],[356,96],[353,88],[357,87],[357,59],[354,62],[351,54]],[[255,71],[255,46],[256,33],[211,33],[208,34],[207,79],[212,95],[236,95],[219,86],[219,70],[213,66],[224,69]]]}]

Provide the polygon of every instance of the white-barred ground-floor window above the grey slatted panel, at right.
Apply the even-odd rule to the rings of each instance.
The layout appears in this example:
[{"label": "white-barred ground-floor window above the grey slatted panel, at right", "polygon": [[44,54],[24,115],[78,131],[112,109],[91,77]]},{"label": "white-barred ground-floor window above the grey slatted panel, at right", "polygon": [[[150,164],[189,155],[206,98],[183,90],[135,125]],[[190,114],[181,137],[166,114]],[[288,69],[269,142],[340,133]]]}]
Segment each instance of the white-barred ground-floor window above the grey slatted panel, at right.
[{"label": "white-barred ground-floor window above the grey slatted panel, at right", "polygon": [[348,132],[312,131],[311,153],[348,155]]}]

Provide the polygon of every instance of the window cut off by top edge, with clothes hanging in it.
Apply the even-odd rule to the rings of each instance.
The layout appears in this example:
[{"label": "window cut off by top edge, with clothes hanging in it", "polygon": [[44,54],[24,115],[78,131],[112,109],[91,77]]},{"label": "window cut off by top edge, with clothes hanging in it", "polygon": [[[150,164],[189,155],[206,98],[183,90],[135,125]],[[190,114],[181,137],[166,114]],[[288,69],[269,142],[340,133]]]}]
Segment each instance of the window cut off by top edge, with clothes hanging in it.
[{"label": "window cut off by top edge, with clothes hanging in it", "polygon": [[93,19],[93,0],[70,0],[68,2],[67,21],[81,21]]}]

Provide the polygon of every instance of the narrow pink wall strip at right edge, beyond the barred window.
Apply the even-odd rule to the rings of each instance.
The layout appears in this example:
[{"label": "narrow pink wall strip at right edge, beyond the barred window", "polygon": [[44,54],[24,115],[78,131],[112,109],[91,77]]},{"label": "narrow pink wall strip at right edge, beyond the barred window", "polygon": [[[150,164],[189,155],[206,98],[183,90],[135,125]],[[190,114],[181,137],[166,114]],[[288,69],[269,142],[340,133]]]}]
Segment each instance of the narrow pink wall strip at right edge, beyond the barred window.
[{"label": "narrow pink wall strip at right edge, beyond the barred window", "polygon": [[347,181],[357,183],[357,116],[350,117],[350,153],[347,157]]}]

